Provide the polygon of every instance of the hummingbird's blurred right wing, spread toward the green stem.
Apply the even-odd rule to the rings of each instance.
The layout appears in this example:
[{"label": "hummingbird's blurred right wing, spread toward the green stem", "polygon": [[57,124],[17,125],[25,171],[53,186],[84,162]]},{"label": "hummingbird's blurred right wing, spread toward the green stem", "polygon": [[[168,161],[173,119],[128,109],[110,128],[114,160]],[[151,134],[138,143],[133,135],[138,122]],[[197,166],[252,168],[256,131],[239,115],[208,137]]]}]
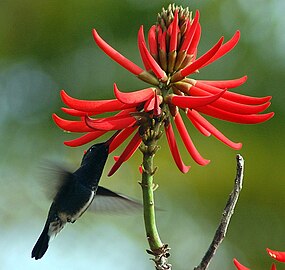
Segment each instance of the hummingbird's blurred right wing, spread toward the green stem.
[{"label": "hummingbird's blurred right wing, spread toward the green stem", "polygon": [[142,204],[123,194],[98,186],[95,198],[89,209],[95,212],[122,214],[142,210]]}]

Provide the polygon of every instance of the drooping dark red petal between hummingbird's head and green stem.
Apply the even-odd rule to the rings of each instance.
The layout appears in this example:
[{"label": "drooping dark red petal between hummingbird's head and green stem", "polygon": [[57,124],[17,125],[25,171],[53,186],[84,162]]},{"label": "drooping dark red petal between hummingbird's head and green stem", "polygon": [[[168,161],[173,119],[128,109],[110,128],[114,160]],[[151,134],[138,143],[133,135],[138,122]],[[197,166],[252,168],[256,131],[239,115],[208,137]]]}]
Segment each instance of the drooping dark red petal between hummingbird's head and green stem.
[{"label": "drooping dark red petal between hummingbird's head and green stem", "polygon": [[138,147],[141,144],[141,137],[139,133],[137,132],[135,136],[131,139],[123,153],[120,155],[118,160],[115,162],[113,167],[111,168],[110,172],[108,173],[108,176],[112,176],[122,165],[123,162],[127,161],[133,153],[138,149]]}]

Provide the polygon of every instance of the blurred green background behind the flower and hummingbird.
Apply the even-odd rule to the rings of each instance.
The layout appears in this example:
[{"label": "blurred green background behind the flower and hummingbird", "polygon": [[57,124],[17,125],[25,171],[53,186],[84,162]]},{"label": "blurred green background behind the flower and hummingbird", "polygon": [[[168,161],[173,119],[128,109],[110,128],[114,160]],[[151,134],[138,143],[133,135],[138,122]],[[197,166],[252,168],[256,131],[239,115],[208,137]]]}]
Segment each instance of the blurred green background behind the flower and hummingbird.
[{"label": "blurred green background behind the flower and hummingbird", "polygon": [[[241,30],[238,46],[197,78],[231,79],[247,74],[237,91],[272,95],[276,115],[260,125],[237,125],[211,119],[234,141],[243,142],[244,189],[228,235],[210,269],[234,269],[232,259],[252,269],[269,269],[266,247],[285,251],[285,35],[283,0],[177,1],[200,10],[199,55],[221,35]],[[82,99],[111,98],[114,82],[123,91],[145,84],[112,62],[93,41],[91,30],[140,64],[136,45],[141,24],[148,29],[166,1],[0,1],[0,269],[153,269],[145,253],[140,214],[106,216],[88,213],[51,243],[40,261],[31,249],[44,225],[50,200],[43,189],[41,162],[78,166],[87,146],[68,148],[51,120],[65,89]],[[174,269],[193,269],[206,251],[233,186],[237,152],[215,138],[204,138],[189,124],[193,140],[211,163],[200,167],[182,145],[182,175],[170,157],[165,137],[156,156],[158,226],[169,243]],[[122,150],[122,149],[120,149]],[[120,153],[120,150],[117,154]],[[102,185],[140,198],[137,152],[111,178],[109,158]],[[51,180],[52,181],[52,180]],[[279,269],[284,266],[279,265]]]}]

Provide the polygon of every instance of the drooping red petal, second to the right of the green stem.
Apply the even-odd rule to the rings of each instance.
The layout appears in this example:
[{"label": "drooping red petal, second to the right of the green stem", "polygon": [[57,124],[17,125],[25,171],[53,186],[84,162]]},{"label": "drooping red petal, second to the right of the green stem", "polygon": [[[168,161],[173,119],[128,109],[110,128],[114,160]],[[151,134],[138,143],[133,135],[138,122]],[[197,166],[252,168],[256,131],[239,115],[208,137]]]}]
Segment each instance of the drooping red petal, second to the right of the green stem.
[{"label": "drooping red petal, second to the right of the green stem", "polygon": [[180,115],[180,113],[178,112],[176,114],[176,116],[174,117],[174,122],[175,125],[177,127],[177,130],[181,136],[181,139],[187,149],[187,151],[189,152],[189,154],[191,155],[191,157],[200,165],[204,166],[207,165],[210,160],[204,159],[200,153],[197,151],[195,145],[193,144],[191,137],[189,136],[189,133],[183,123],[182,117]]}]

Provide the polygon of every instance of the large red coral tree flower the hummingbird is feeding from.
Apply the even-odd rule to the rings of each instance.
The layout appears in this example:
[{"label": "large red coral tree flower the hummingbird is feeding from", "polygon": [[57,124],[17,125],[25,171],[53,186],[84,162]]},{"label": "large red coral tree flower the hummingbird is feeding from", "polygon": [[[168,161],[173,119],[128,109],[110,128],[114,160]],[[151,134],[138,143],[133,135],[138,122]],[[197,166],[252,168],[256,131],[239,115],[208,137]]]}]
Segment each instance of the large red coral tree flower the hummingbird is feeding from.
[{"label": "large red coral tree flower the hummingbird is feeding from", "polygon": [[[229,147],[240,149],[241,143],[231,141],[203,115],[242,124],[261,123],[274,114],[261,114],[269,107],[271,97],[250,97],[231,92],[230,89],[245,83],[246,76],[223,81],[197,80],[191,77],[227,54],[240,38],[239,31],[227,42],[222,37],[198,57],[201,36],[199,16],[198,11],[192,18],[192,13],[187,8],[169,5],[167,10],[163,9],[158,15],[157,23],[150,27],[147,40],[141,26],[138,31],[138,49],[144,69],[112,48],[94,29],[96,44],[115,62],[150,84],[150,87],[122,92],[114,84],[114,99],[95,101],[75,99],[62,90],[61,98],[68,107],[62,110],[78,120],[65,120],[54,114],[55,123],[66,131],[84,133],[79,138],[65,141],[65,144],[80,146],[108,131],[121,130],[110,145],[112,152],[133,134],[123,153],[116,159],[109,173],[112,175],[139,147],[143,137],[140,127],[145,127],[151,122],[150,119],[161,119],[174,161],[186,173],[190,166],[183,163],[179,154],[173,123],[191,157],[200,165],[206,165],[209,160],[203,158],[193,144],[181,116],[183,113],[201,134],[213,135]],[[106,112],[115,114],[98,117]]]}]

